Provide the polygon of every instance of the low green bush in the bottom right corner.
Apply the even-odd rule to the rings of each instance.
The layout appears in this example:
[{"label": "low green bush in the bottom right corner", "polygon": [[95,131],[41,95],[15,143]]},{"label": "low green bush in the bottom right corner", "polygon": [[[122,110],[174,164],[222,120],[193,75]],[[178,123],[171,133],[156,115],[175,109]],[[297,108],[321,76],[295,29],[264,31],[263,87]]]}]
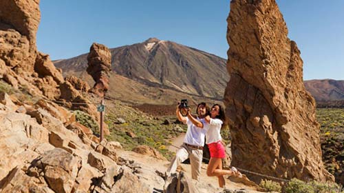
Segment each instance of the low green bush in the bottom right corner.
[{"label": "low green bush in the bottom right corner", "polygon": [[292,179],[285,187],[286,193],[343,193],[341,186],[336,183],[321,183],[310,181],[305,183]]}]

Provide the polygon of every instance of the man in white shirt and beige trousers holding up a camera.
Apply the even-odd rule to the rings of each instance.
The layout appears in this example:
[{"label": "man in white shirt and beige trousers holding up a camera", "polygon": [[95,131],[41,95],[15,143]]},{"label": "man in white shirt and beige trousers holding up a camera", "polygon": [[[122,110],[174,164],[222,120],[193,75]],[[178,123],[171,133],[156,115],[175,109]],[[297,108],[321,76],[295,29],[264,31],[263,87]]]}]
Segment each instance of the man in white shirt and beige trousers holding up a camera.
[{"label": "man in white shirt and beige trousers holding up a camera", "polygon": [[[186,111],[187,115],[182,116],[182,113],[180,112],[181,110]],[[170,174],[175,172],[177,166],[189,158],[192,178],[198,181],[201,173],[204,138],[209,128],[209,125],[204,121],[204,118],[209,114],[209,107],[206,103],[199,103],[196,109],[197,117],[195,118],[191,115],[189,108],[180,109],[178,103],[175,113],[177,114],[179,121],[188,125],[188,130],[184,137],[184,143],[172,159],[171,164],[167,169],[167,173]]]}]

